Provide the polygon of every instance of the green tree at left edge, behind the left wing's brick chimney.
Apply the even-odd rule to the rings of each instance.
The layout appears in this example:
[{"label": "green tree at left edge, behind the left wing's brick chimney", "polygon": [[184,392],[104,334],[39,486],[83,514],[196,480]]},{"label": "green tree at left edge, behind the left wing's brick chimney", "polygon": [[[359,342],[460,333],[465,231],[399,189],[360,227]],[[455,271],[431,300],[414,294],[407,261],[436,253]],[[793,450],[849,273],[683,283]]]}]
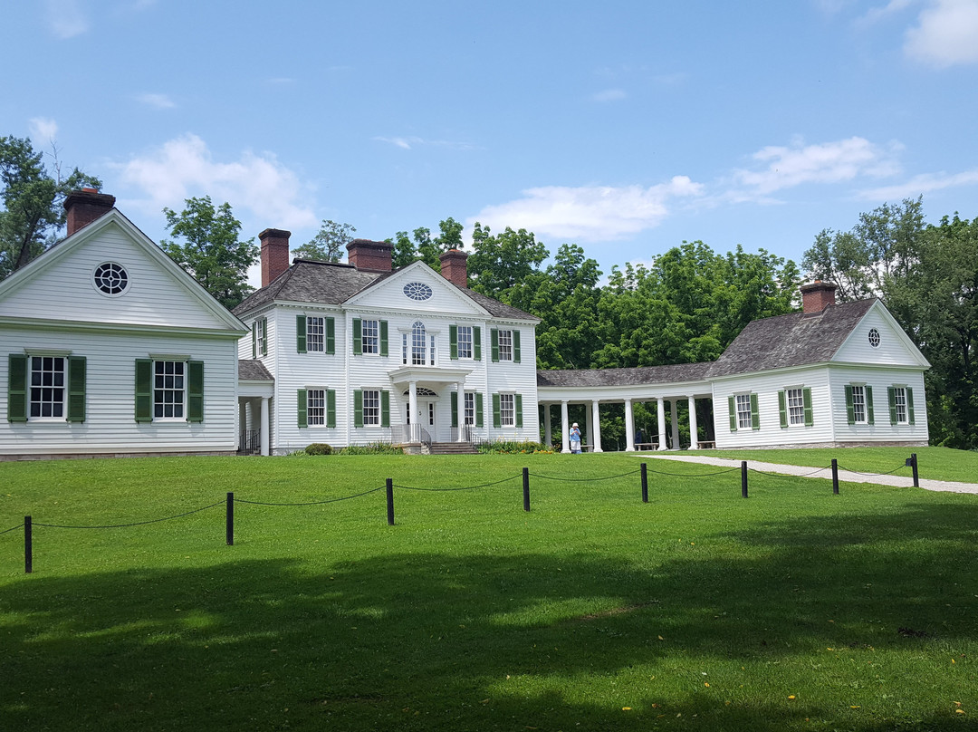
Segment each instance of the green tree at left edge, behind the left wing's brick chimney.
[{"label": "green tree at left edge, behind the left wing's brick chimney", "polygon": [[29,139],[0,137],[0,279],[58,240],[65,226],[62,205],[70,191],[102,187],[98,178],[78,168],[63,176],[57,148],[53,160],[52,174]]}]

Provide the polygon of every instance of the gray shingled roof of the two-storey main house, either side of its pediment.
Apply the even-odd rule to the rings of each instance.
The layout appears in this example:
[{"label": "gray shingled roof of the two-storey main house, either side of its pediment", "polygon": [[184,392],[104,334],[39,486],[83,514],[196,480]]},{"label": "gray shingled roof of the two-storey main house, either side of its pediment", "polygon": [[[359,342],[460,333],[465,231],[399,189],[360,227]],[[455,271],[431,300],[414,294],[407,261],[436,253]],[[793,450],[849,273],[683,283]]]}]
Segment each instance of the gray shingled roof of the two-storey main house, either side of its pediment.
[{"label": "gray shingled roof of the two-storey main house, either side of its pediment", "polygon": [[[361,290],[378,285],[392,274],[394,272],[361,272],[352,264],[295,259],[289,269],[275,278],[268,287],[245,297],[244,302],[234,309],[234,313],[243,315],[274,300],[338,305]],[[519,308],[451,284],[494,317],[539,321],[539,318]]]}]

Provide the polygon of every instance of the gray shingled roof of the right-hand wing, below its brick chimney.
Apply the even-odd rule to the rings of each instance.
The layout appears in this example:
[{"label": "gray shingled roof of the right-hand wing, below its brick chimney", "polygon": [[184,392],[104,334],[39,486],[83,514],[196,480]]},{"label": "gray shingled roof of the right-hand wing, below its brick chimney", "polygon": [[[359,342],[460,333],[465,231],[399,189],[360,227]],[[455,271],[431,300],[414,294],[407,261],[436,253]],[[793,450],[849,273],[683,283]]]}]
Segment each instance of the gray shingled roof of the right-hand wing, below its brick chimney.
[{"label": "gray shingled roof of the right-hand wing, below its brick chimney", "polygon": [[815,315],[796,312],[748,323],[712,364],[708,376],[731,376],[829,361],[875,301],[845,302],[829,305]]}]

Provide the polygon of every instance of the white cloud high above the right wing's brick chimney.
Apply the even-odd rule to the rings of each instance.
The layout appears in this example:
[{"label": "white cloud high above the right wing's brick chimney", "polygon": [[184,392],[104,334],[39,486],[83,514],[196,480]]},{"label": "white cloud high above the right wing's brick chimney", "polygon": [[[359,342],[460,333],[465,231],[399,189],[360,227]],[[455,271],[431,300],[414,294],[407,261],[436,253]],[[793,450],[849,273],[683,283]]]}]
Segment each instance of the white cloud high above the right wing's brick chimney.
[{"label": "white cloud high above the right wing's brick chimney", "polygon": [[882,177],[899,171],[895,153],[899,145],[884,149],[865,138],[792,147],[769,146],[752,158],[767,166],[758,170],[734,171],[736,181],[747,191],[732,192],[744,199],[767,196],[803,183],[839,183],[860,176]]}]

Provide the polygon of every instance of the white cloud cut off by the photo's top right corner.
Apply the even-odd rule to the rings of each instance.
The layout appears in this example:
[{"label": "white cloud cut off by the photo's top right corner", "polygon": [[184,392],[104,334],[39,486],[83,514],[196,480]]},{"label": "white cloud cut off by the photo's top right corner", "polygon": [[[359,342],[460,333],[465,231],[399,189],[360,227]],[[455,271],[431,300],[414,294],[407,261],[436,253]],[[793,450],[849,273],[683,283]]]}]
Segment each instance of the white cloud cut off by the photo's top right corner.
[{"label": "white cloud cut off by the photo's top right corner", "polygon": [[978,2],[932,0],[907,31],[904,52],[938,68],[978,63]]}]

